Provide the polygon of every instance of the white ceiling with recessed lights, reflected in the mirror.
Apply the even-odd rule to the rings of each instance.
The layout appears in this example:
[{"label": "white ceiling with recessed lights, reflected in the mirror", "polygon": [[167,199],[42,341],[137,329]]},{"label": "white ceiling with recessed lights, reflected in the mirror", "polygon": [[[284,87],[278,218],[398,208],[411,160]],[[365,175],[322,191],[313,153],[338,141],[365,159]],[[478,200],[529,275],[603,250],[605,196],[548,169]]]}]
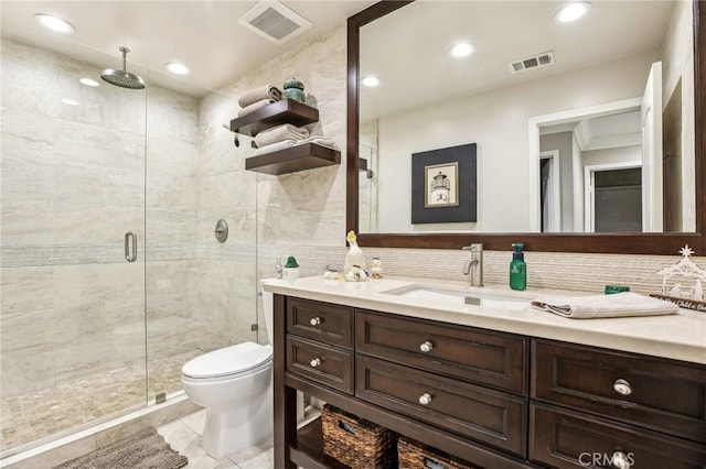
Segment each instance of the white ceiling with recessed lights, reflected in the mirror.
[{"label": "white ceiling with recessed lights, reflected in the mirror", "polygon": [[[361,121],[657,50],[677,1],[592,0],[568,24],[554,21],[567,0],[416,1],[361,29],[361,74],[382,80],[361,88]],[[449,57],[466,41],[475,52]],[[554,65],[510,73],[549,51]]]}]

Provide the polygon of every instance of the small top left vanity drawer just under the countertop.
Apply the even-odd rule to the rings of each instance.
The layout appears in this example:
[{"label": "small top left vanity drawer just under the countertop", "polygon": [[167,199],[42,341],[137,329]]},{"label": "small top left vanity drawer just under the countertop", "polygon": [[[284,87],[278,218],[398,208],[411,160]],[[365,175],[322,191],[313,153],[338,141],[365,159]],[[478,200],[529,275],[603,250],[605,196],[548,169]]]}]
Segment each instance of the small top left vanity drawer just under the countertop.
[{"label": "small top left vanity drawer just under the countertop", "polygon": [[352,349],[353,308],[289,297],[287,332]]}]

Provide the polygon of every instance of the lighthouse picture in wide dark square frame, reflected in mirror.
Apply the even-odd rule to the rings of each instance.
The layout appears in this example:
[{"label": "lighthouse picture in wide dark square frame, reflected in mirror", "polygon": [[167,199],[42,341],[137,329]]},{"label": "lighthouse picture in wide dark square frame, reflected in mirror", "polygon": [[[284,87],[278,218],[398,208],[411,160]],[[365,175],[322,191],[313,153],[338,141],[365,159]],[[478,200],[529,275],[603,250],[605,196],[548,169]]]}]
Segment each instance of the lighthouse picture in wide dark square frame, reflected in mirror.
[{"label": "lighthouse picture in wide dark square frame, reflected in mirror", "polygon": [[477,148],[468,143],[411,154],[411,222],[477,221]]}]

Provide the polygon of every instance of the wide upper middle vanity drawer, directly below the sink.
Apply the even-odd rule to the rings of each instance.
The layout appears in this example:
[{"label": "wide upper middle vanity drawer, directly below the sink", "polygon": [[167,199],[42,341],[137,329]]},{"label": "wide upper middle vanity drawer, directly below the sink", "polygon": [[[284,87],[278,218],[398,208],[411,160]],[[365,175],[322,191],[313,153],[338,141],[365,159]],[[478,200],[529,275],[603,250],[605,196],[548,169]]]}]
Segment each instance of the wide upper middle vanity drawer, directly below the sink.
[{"label": "wide upper middle vanity drawer, directly below the sink", "polygon": [[527,393],[525,337],[361,309],[355,320],[359,352]]}]

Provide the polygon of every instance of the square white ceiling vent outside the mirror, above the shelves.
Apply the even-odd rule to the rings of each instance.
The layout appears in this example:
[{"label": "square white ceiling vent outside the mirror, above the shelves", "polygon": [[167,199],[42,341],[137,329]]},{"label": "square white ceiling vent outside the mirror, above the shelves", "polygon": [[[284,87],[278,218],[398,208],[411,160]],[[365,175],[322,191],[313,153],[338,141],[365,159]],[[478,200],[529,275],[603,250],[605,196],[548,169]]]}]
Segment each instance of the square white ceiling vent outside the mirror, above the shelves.
[{"label": "square white ceiling vent outside the mirror, above the shelves", "polygon": [[277,45],[301,34],[311,23],[277,1],[261,1],[238,19],[238,23]]}]

